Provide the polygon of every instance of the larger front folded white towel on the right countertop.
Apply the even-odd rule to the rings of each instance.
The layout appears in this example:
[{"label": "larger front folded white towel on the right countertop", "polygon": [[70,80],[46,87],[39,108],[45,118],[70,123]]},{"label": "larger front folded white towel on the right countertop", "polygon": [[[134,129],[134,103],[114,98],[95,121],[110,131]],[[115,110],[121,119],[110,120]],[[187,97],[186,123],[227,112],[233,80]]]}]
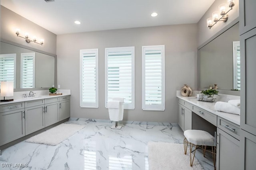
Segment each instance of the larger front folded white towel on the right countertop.
[{"label": "larger front folded white towel on the right countertop", "polygon": [[240,115],[240,108],[233,106],[232,104],[227,102],[216,102],[215,109],[217,111]]}]

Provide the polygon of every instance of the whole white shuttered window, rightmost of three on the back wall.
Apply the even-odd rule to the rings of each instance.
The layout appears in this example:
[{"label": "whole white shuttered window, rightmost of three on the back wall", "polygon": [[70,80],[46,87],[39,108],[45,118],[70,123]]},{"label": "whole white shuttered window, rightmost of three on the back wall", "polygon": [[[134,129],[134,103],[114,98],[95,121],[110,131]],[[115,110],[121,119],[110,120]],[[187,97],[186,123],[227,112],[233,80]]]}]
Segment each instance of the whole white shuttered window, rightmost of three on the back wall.
[{"label": "whole white shuttered window, rightmost of three on the back wall", "polygon": [[164,45],[142,46],[142,109],[164,111]]}]

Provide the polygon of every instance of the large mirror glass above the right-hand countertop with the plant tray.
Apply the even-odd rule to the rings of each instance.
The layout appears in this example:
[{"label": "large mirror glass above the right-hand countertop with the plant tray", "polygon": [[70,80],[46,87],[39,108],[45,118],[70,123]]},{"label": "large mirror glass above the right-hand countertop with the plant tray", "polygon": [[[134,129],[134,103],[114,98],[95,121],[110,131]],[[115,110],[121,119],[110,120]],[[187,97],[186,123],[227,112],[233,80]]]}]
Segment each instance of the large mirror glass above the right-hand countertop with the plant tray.
[{"label": "large mirror glass above the right-hand countertop with the plant tray", "polygon": [[199,89],[240,90],[239,23],[198,48]]}]

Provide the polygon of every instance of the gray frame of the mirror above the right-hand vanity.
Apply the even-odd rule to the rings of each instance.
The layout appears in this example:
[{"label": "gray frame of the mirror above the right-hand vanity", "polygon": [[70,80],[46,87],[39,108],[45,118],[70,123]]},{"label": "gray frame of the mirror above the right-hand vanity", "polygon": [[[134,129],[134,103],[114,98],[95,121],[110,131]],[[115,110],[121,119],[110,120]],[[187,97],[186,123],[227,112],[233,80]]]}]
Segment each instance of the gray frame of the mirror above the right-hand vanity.
[{"label": "gray frame of the mirror above the right-hand vanity", "polygon": [[[228,29],[230,29],[233,25],[235,25],[236,23],[239,22],[239,17],[236,18],[234,21],[230,22],[228,25],[226,25],[225,27],[223,27],[220,31],[218,31],[216,34],[214,34],[210,39],[208,39],[206,42],[204,42],[202,45],[200,45],[197,48],[197,89],[199,91],[201,90],[206,90],[206,88],[200,88],[199,84],[200,84],[200,78],[199,78],[199,74],[200,74],[200,70],[199,70],[199,49],[201,49],[202,47],[204,47],[206,44],[210,43],[212,40],[214,40],[216,37],[218,37],[219,35],[221,35],[222,33],[224,33],[225,31],[227,31]],[[218,89],[220,94],[228,94],[228,95],[234,95],[234,96],[240,96],[240,91],[235,91],[235,90],[221,90]]]}]

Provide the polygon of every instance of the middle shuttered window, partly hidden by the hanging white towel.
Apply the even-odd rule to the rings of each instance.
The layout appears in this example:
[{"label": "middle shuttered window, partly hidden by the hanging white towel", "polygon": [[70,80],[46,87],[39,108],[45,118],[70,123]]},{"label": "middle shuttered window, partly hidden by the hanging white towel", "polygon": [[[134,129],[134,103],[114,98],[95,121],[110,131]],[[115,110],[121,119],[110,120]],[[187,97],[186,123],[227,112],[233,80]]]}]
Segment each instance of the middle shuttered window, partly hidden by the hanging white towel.
[{"label": "middle shuttered window, partly hidden by the hanging white towel", "polygon": [[119,97],[124,109],[134,109],[134,47],[106,48],[105,64],[105,107]]}]

